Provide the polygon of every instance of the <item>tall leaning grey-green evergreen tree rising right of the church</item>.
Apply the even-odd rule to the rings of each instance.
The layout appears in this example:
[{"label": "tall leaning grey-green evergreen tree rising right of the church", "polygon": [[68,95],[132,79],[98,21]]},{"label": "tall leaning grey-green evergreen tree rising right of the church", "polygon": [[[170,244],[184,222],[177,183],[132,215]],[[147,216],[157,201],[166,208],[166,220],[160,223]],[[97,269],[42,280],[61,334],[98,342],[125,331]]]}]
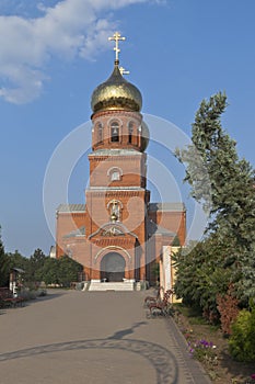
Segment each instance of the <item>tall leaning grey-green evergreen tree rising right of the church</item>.
[{"label": "tall leaning grey-green evergreen tree rising right of the church", "polygon": [[[253,168],[239,159],[235,142],[221,126],[227,105],[221,92],[204,100],[193,124],[193,145],[177,149],[176,156],[186,165],[185,180],[192,195],[210,212],[207,237],[215,236],[213,255],[205,239],[204,264],[210,264],[212,258],[215,268],[221,268],[222,275],[235,284],[235,293],[244,304],[255,295],[255,178]],[[195,248],[193,256],[199,258],[199,252]],[[225,269],[231,273],[225,274]],[[201,287],[200,298],[204,293]]]}]

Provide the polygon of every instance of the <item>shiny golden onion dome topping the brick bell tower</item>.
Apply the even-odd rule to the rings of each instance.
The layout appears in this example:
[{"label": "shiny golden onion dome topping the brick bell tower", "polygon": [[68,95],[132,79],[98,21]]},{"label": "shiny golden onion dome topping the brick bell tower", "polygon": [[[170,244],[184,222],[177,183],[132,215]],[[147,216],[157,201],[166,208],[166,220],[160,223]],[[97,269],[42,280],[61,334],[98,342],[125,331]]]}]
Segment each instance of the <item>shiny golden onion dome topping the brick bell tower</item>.
[{"label": "shiny golden onion dome topping the brick bell tower", "polygon": [[91,98],[93,113],[107,110],[140,112],[141,104],[142,98],[139,89],[124,79],[118,63],[115,63],[114,71],[108,80],[96,87]]}]

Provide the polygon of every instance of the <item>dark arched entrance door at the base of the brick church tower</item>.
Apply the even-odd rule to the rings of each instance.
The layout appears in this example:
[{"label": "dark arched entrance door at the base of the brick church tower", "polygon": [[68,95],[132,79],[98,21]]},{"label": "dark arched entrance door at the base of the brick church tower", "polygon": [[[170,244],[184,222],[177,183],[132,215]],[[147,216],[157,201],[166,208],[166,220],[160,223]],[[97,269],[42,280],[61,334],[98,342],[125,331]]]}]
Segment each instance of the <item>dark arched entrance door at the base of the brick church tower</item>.
[{"label": "dark arched entrance door at the base of the brick church tower", "polygon": [[121,281],[125,278],[126,261],[118,252],[106,253],[101,261],[101,279]]}]

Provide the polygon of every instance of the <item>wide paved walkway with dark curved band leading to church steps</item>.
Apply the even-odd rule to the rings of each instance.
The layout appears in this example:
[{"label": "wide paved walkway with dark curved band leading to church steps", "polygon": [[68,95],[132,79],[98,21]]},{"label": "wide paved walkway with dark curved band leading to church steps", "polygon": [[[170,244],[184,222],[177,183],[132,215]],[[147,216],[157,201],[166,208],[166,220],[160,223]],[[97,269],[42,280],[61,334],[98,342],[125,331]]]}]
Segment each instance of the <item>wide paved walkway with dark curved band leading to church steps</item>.
[{"label": "wide paved walkway with dark curved band leading to church steps", "polygon": [[144,292],[54,291],[0,315],[0,383],[206,384],[172,318]]}]

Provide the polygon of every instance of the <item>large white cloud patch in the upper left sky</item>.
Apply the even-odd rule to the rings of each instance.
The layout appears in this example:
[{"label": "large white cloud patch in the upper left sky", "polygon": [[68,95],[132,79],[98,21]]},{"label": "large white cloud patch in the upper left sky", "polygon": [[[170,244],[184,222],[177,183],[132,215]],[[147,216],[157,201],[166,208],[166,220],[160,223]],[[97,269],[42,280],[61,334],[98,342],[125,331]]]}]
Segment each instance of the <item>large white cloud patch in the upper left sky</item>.
[{"label": "large white cloud patch in the upper left sky", "polygon": [[[157,0],[152,0],[158,2]],[[12,103],[36,99],[54,57],[91,59],[107,46],[116,23],[107,12],[150,0],[63,0],[38,18],[0,16],[0,97]]]}]

